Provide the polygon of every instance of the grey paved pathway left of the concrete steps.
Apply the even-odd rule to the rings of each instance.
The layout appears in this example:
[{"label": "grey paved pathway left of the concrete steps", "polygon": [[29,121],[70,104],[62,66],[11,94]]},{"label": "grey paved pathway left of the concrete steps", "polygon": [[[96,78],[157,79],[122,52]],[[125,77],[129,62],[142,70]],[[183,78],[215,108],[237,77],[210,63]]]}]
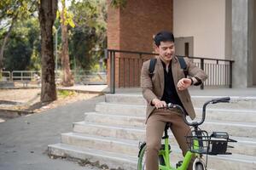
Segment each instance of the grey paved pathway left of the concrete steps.
[{"label": "grey paved pathway left of the concrete steps", "polygon": [[61,133],[71,132],[73,122],[94,111],[103,96],[79,101],[30,116],[0,123],[0,170],[98,170],[73,161],[50,159],[47,145],[61,141]]}]

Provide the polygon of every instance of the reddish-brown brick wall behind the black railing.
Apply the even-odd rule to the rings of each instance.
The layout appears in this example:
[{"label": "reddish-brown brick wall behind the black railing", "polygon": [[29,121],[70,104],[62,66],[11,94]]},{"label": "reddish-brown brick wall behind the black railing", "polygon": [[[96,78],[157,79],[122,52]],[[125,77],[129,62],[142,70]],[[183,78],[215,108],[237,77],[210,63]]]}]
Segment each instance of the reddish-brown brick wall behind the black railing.
[{"label": "reddish-brown brick wall behind the black railing", "polygon": [[[172,0],[128,0],[124,9],[110,7],[108,0],[108,48],[154,52],[153,37],[161,30],[172,31]],[[116,57],[116,87],[138,87],[141,65],[148,58]],[[108,61],[108,82],[109,69]]]}]

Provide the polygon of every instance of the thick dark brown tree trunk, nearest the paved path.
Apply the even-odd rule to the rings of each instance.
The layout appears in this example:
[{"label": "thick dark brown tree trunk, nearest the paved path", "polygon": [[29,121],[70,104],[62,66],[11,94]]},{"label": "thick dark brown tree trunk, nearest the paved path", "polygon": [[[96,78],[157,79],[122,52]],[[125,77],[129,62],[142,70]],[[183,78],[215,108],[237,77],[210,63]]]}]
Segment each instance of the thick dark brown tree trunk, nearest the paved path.
[{"label": "thick dark brown tree trunk, nearest the paved path", "polygon": [[55,60],[52,26],[57,11],[57,0],[40,0],[39,20],[41,28],[41,102],[57,99],[55,86]]}]

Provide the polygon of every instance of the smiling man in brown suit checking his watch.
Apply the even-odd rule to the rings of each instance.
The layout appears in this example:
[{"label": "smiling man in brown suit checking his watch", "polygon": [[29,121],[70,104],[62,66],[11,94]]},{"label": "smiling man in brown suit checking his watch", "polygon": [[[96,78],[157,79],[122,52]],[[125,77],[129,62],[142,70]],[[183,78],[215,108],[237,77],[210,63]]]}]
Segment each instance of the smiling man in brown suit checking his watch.
[{"label": "smiling man in brown suit checking his watch", "polygon": [[[187,65],[189,77],[185,77],[177,57],[175,56],[174,37],[172,32],[160,31],[154,37],[155,50],[159,54],[156,57],[153,77],[149,76],[149,63],[143,63],[141,74],[141,87],[143,97],[148,101],[146,116],[146,167],[147,170],[158,170],[158,152],[166,122],[171,122],[172,133],[183,156],[188,150],[186,136],[190,133],[189,126],[183,122],[183,118],[177,109],[158,109],[172,103],[181,105],[191,119],[195,118],[195,111],[190,99],[189,88],[191,85],[200,85],[207,79],[207,75],[196,67],[190,59],[184,59]],[[192,169],[192,163],[189,169]]]}]

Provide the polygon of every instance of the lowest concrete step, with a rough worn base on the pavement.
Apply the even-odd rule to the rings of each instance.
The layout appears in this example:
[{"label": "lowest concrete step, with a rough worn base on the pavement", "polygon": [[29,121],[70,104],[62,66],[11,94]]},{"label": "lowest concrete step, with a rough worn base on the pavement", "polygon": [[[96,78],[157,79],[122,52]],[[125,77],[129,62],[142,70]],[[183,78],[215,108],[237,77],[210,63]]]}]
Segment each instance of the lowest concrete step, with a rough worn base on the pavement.
[{"label": "lowest concrete step, with a rough worn base on the pavement", "polygon": [[72,157],[90,161],[107,169],[137,170],[137,156],[89,149],[71,144],[49,144],[48,153],[53,156]]}]

